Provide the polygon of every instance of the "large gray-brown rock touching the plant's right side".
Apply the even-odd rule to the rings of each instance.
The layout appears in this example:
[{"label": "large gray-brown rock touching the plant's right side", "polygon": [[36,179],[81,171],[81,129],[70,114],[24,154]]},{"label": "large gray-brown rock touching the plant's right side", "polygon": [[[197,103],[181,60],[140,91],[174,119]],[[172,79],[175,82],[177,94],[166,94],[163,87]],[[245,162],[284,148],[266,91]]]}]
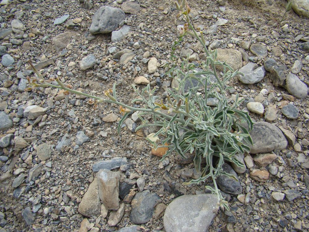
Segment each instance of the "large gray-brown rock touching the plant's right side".
[{"label": "large gray-brown rock touching the plant's right side", "polygon": [[249,145],[251,154],[268,153],[274,149],[282,150],[288,144],[281,130],[268,122],[256,122],[250,135],[253,140],[253,145]]}]

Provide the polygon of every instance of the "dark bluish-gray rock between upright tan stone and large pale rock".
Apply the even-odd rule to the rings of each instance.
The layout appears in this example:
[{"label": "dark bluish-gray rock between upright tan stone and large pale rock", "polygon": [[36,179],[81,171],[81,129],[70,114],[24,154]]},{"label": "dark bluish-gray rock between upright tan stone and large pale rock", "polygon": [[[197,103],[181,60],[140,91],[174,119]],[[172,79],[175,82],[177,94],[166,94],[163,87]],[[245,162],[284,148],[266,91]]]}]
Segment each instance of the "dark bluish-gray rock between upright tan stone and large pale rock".
[{"label": "dark bluish-gray rock between upright tan stone and large pale rock", "polygon": [[130,221],[134,224],[143,224],[150,221],[154,206],[160,197],[149,190],[138,192],[131,201],[132,211]]}]

